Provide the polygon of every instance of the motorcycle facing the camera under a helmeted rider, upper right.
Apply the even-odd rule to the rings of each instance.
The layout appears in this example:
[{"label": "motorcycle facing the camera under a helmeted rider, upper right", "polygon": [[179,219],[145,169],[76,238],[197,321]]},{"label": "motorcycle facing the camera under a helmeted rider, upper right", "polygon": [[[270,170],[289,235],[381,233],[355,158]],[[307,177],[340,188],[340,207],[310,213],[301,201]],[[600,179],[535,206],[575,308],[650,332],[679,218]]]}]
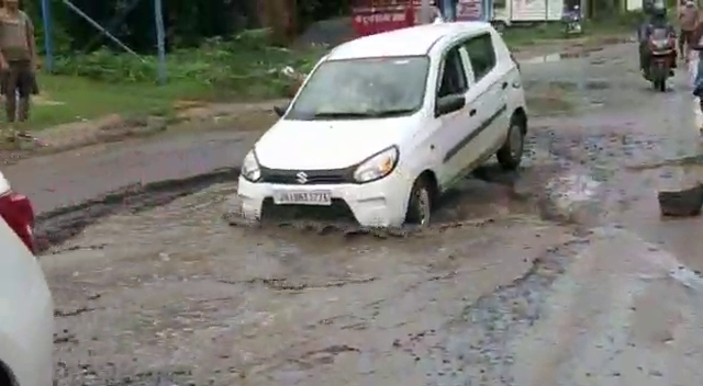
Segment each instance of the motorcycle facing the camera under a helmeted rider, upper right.
[{"label": "motorcycle facing the camera under a helmeted rider, upper right", "polygon": [[647,80],[651,82],[655,90],[667,91],[667,80],[673,76],[676,65],[676,37],[665,29],[652,31],[649,36],[649,70],[646,73]]}]

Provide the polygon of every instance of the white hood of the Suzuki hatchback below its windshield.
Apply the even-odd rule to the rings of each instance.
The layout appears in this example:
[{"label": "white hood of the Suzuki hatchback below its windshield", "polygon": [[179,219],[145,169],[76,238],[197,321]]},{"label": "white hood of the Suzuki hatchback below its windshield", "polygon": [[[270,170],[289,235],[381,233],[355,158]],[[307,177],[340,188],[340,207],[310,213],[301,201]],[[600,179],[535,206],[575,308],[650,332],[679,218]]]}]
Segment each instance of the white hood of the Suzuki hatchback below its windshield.
[{"label": "white hood of the Suzuki hatchback below its windshield", "polygon": [[398,145],[410,117],[354,121],[279,121],[256,144],[261,166],[271,169],[341,169]]}]

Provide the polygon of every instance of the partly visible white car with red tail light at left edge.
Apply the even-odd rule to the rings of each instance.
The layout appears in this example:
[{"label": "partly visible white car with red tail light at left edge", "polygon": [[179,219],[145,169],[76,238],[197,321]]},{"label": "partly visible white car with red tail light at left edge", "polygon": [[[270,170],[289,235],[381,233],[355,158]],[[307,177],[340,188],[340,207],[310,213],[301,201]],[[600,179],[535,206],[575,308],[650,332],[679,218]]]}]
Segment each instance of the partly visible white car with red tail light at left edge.
[{"label": "partly visible white car with red tail light at left edge", "polygon": [[54,305],[31,250],[34,213],[1,173],[0,191],[0,385],[51,386]]}]

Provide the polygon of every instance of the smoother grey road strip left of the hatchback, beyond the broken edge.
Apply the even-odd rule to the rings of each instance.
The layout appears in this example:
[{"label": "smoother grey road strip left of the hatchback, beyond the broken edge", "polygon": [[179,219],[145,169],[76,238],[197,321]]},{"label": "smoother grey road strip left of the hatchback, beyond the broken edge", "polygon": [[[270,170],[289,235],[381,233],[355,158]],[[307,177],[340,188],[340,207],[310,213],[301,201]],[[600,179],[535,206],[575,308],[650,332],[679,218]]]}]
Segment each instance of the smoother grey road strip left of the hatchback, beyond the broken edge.
[{"label": "smoother grey road strip left of the hatchback, beyond the broken edge", "polygon": [[3,173],[43,213],[133,184],[237,167],[256,138],[255,133],[219,130],[97,145],[24,160]]}]

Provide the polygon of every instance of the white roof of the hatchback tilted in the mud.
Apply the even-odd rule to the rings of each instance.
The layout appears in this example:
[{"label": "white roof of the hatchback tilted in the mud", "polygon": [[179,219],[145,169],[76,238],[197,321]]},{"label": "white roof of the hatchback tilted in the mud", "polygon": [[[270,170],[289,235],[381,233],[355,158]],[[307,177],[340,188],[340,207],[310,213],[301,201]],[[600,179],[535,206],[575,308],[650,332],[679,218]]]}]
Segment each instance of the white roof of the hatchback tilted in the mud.
[{"label": "white roof of the hatchback tilted in the mud", "polygon": [[356,38],[334,48],[327,60],[427,55],[443,37],[488,32],[484,22],[424,24]]}]

